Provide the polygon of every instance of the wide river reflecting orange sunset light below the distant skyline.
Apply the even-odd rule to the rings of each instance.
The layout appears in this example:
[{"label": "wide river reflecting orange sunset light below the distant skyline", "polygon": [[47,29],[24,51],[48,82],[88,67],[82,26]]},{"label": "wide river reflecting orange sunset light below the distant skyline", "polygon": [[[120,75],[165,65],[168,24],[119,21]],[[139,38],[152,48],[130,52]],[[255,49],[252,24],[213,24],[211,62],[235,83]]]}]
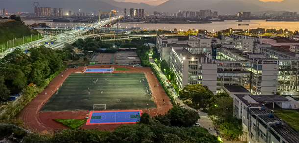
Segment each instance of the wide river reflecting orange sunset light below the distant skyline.
[{"label": "wide river reflecting orange sunset light below the distant skyline", "polygon": [[[33,24],[34,20],[25,20],[25,24]],[[70,26],[73,24],[74,26],[79,23],[53,23],[40,20],[38,23],[46,23],[47,25],[52,24],[53,27],[62,27]],[[58,24],[58,25],[57,25]],[[66,24],[66,25],[65,25]],[[238,24],[249,24],[248,26],[238,26]],[[163,29],[163,30],[177,30],[182,29],[187,31],[188,29],[205,29],[209,32],[220,31],[223,29],[233,28],[233,29],[256,29],[256,28],[266,28],[266,29],[288,29],[291,31],[299,30],[299,22],[266,22],[265,20],[245,20],[243,22],[237,22],[236,20],[226,20],[224,22],[212,22],[209,24],[143,24],[143,23],[119,23],[121,28],[129,28],[129,27],[140,27],[140,29]],[[50,25],[51,26],[51,25]],[[115,27],[115,25],[114,25]]]}]

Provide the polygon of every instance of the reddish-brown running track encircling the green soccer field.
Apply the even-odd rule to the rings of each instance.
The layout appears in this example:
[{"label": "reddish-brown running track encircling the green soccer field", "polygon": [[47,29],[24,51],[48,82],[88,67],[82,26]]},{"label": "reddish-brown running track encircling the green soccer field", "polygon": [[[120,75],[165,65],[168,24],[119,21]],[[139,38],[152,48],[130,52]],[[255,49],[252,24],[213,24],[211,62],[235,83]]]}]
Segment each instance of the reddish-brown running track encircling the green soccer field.
[{"label": "reddish-brown running track encircling the green soccer field", "polygon": [[[27,106],[25,106],[18,114],[17,117],[21,118],[24,123],[32,131],[37,132],[52,132],[56,129],[66,129],[67,127],[60,124],[53,119],[86,119],[88,117],[89,111],[45,111],[40,112],[40,109],[48,101],[48,99],[55,93],[55,91],[60,87],[63,81],[70,75],[70,73],[83,73],[84,68],[127,68],[130,71],[114,71],[113,73],[144,73],[145,77],[149,81],[149,87],[152,91],[157,108],[155,109],[142,109],[143,112],[148,112],[152,117],[158,114],[164,114],[169,109],[172,108],[172,104],[160,85],[158,79],[155,75],[151,74],[151,68],[141,68],[125,65],[92,65],[86,67],[78,68],[68,68],[61,71],[47,86],[46,88],[38,94]],[[88,73],[87,73],[88,74]],[[107,73],[99,73],[107,74]],[[110,74],[110,73],[109,73]],[[159,85],[156,86],[155,85]],[[46,95],[47,93],[47,95]],[[165,101],[165,104],[164,104]],[[114,130],[120,124],[108,124],[108,125],[82,125],[83,129],[97,128],[100,130]]]}]

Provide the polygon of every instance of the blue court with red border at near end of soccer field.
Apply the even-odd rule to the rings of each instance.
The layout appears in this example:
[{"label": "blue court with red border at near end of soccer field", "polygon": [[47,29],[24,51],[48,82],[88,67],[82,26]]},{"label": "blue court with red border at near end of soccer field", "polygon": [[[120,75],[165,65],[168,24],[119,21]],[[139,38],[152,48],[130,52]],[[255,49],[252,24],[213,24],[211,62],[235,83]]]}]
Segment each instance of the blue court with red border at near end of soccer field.
[{"label": "blue court with red border at near end of soccer field", "polygon": [[136,123],[141,113],[141,110],[91,111],[86,125]]}]

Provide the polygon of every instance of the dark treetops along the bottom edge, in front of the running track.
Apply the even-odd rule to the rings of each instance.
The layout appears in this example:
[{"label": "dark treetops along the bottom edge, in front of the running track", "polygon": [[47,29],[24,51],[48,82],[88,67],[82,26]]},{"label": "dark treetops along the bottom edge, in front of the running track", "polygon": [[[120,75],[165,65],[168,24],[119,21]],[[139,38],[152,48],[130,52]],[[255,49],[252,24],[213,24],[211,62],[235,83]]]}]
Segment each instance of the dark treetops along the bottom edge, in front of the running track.
[{"label": "dark treetops along the bottom edge, in front of the running track", "polygon": [[123,124],[112,132],[66,129],[53,135],[18,133],[14,136],[23,138],[26,143],[220,143],[207,129],[193,126],[198,119],[196,112],[174,107],[165,115],[153,118],[143,113],[138,123]]}]

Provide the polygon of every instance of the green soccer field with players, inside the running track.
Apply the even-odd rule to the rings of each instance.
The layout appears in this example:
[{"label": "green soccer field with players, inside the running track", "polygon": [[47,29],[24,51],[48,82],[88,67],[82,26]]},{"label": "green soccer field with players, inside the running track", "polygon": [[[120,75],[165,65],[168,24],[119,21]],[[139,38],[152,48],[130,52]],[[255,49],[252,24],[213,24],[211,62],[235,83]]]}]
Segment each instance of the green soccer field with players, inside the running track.
[{"label": "green soccer field with players, inside the running track", "polygon": [[106,104],[106,110],[156,108],[143,73],[73,73],[41,111],[93,110],[94,104]]}]

